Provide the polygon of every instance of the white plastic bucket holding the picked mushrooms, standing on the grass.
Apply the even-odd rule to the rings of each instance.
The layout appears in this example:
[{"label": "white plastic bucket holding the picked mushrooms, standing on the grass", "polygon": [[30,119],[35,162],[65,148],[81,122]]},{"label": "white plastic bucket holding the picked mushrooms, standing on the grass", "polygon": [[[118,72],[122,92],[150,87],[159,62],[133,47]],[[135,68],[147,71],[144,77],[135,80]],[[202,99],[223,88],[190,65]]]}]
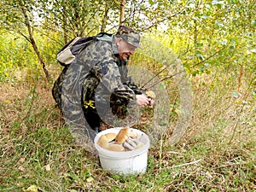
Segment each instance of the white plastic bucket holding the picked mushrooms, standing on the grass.
[{"label": "white plastic bucket holding the picked mushrooms, standing on the grass", "polygon": [[105,148],[102,148],[97,144],[98,139],[106,133],[118,134],[123,127],[115,127],[108,130],[99,132],[95,139],[94,144],[98,151],[101,166],[103,169],[119,173],[119,174],[136,174],[144,173],[147,170],[148,165],[148,148],[150,141],[148,136],[137,129],[131,128],[138,135],[142,135],[140,142],[143,143],[143,147],[137,148],[131,151],[116,152]]}]

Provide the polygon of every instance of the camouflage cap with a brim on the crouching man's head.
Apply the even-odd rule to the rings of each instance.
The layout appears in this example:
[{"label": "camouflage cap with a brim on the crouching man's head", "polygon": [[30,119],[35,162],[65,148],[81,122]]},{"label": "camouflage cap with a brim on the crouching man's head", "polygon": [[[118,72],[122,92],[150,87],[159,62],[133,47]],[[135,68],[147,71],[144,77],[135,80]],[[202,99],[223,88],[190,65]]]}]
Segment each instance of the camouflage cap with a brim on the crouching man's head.
[{"label": "camouflage cap with a brim on the crouching man's head", "polygon": [[119,26],[116,36],[123,38],[128,44],[141,48],[140,35],[128,26]]}]

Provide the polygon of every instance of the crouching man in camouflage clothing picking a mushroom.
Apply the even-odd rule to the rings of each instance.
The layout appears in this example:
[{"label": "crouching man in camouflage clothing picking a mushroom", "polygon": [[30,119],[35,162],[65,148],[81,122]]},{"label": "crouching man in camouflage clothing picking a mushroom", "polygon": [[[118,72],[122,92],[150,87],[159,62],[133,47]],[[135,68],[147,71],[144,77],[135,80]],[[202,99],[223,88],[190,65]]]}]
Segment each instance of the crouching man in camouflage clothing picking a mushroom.
[{"label": "crouching man in camouflage clothing picking a mushroom", "polygon": [[[128,108],[153,107],[154,100],[127,76],[127,61],[140,48],[140,36],[128,26],[115,35],[100,33],[83,49],[55,82],[53,96],[67,119],[84,118],[96,133],[102,117],[109,113],[124,119]],[[80,106],[79,106],[80,105]],[[75,107],[75,108],[74,108]],[[73,115],[72,118],[67,117]],[[91,134],[87,134],[91,137]]]}]

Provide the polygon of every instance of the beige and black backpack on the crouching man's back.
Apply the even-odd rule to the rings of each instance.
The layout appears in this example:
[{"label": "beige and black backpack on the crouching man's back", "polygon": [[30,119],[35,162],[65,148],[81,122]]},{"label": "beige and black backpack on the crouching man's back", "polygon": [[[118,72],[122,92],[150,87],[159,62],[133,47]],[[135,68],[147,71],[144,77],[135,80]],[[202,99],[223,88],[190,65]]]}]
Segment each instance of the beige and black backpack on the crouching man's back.
[{"label": "beige and black backpack on the crouching man's back", "polygon": [[89,38],[73,38],[71,41],[65,44],[58,52],[57,61],[60,62],[61,66],[68,66],[74,61],[76,55],[78,55],[81,52],[81,50],[83,50],[84,47],[86,47],[86,45],[90,44],[90,42],[92,42],[95,39],[96,36]]}]

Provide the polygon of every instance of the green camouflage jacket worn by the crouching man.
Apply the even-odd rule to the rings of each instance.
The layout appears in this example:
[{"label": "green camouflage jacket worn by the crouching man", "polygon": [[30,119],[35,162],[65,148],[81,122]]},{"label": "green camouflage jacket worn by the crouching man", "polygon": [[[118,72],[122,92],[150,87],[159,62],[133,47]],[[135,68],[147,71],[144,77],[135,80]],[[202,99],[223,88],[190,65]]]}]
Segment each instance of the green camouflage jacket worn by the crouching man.
[{"label": "green camouflage jacket worn by the crouching man", "polygon": [[133,105],[136,94],[142,94],[143,90],[137,88],[127,73],[126,61],[119,59],[114,35],[99,35],[63,70],[55,82],[53,96],[62,110],[67,102],[67,110],[73,110],[66,100],[75,98],[77,102],[79,98],[82,108],[108,108],[109,102],[111,107]]}]

